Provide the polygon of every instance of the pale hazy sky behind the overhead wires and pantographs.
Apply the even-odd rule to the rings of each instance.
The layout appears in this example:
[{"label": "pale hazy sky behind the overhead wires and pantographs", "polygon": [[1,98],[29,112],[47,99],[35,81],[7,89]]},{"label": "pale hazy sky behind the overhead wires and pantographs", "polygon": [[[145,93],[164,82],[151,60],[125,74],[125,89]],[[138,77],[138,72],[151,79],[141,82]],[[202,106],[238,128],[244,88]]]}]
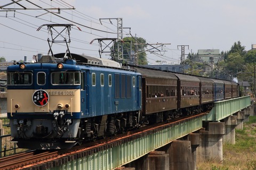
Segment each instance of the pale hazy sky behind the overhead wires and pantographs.
[{"label": "pale hazy sky behind the overhead wires and pantographs", "polygon": [[[46,27],[39,31],[37,28],[50,23],[76,24],[82,31],[71,29],[70,52],[99,57],[98,41],[90,42],[95,38],[117,38],[116,18],[122,18],[124,28],[131,28],[133,37],[142,37],[148,44],[165,44],[158,48],[161,52],[146,52],[148,62],[179,63],[180,45],[186,45],[185,54],[188,54],[197,53],[198,49],[225,52],[237,41],[246,50],[256,44],[256,1],[18,1],[27,10],[19,4],[5,6],[11,2],[0,2],[0,56],[7,61],[23,60],[24,56],[32,60],[33,55],[47,54],[50,35]],[[58,10],[47,13],[39,7],[61,10],[60,14]],[[6,12],[6,8],[12,11]],[[99,21],[108,18],[111,20],[101,20],[102,24]],[[123,37],[130,37],[129,29],[123,29],[123,33]],[[66,47],[53,46],[54,53],[66,51]],[[102,54],[102,58],[109,55]]]}]

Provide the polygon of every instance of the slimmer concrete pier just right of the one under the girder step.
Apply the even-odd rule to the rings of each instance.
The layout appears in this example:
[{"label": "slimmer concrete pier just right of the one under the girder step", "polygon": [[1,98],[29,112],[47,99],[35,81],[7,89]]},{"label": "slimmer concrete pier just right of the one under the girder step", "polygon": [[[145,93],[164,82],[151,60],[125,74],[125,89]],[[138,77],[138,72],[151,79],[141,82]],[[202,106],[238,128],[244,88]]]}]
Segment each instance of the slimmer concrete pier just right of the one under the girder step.
[{"label": "slimmer concrete pier just right of the one under the girder step", "polygon": [[237,116],[228,116],[224,119],[226,133],[223,135],[223,142],[236,144],[236,133],[235,129],[237,126]]}]

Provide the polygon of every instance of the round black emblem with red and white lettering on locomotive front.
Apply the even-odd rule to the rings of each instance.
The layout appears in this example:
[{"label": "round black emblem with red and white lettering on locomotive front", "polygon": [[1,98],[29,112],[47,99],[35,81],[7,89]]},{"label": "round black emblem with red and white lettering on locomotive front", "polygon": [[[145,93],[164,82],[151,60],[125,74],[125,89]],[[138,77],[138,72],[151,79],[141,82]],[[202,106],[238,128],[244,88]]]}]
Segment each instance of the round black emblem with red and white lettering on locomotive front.
[{"label": "round black emblem with red and white lettering on locomotive front", "polygon": [[36,90],[32,100],[36,106],[45,106],[49,101],[49,95],[44,90]]}]

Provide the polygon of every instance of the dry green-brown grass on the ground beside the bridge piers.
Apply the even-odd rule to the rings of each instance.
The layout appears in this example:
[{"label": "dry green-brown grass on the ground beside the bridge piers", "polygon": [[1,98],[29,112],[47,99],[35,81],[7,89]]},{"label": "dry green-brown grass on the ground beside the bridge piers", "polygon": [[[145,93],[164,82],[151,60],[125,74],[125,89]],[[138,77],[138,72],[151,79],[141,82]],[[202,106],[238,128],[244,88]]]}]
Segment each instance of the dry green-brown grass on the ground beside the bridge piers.
[{"label": "dry green-brown grass on the ground beside the bridge piers", "polygon": [[256,116],[250,116],[243,130],[236,131],[236,144],[223,144],[223,161],[207,160],[197,164],[197,170],[256,169]]}]

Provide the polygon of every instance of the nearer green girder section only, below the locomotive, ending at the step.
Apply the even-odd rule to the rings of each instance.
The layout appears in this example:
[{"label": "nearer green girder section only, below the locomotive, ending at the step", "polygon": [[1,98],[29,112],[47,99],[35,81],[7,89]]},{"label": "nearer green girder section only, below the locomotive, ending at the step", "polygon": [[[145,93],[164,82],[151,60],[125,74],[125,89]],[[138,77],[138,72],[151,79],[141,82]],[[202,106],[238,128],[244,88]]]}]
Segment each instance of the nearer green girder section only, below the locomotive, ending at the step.
[{"label": "nearer green girder section only, below the locomotive, ending at the step", "polygon": [[175,139],[202,128],[202,117],[181,121],[169,128],[148,133],[140,138],[98,151],[83,158],[71,160],[51,169],[115,169],[161,148]]}]

